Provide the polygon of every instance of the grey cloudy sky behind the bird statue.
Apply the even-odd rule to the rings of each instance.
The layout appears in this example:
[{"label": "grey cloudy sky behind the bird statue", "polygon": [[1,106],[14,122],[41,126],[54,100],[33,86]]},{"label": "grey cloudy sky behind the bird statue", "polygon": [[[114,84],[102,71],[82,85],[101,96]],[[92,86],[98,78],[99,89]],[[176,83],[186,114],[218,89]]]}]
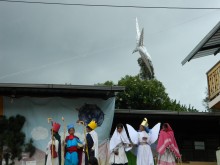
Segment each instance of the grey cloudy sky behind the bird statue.
[{"label": "grey cloudy sky behind the bird statue", "polygon": [[[29,0],[31,1],[31,0]],[[32,0],[33,1],[33,0]],[[219,0],[42,0],[44,2],[219,7]],[[0,83],[94,85],[140,67],[135,19],[155,76],[171,99],[205,111],[207,71],[220,56],[182,60],[220,21],[220,9],[149,9],[0,1]]]}]

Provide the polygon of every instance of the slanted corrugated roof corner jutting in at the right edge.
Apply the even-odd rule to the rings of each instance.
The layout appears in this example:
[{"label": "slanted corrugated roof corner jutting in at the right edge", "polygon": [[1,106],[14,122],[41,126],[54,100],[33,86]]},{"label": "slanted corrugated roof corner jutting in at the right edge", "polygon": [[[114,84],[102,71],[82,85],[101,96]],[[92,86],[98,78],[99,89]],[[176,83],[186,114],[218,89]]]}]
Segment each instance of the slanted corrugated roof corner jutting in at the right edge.
[{"label": "slanted corrugated roof corner jutting in at the right edge", "polygon": [[208,55],[216,55],[220,52],[220,21],[218,24],[199,42],[199,44],[182,61],[182,65],[192,59]]}]

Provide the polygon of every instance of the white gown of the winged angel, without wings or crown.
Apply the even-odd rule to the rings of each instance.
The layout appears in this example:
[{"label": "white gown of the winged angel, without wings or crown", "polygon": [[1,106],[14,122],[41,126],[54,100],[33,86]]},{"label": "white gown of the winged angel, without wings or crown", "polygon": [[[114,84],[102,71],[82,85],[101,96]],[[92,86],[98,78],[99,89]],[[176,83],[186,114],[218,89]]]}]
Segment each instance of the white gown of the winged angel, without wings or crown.
[{"label": "white gown of the winged angel, without wings or crown", "polygon": [[154,165],[153,154],[148,140],[143,140],[144,137],[149,138],[146,131],[138,132],[139,144],[137,150],[137,165]]}]

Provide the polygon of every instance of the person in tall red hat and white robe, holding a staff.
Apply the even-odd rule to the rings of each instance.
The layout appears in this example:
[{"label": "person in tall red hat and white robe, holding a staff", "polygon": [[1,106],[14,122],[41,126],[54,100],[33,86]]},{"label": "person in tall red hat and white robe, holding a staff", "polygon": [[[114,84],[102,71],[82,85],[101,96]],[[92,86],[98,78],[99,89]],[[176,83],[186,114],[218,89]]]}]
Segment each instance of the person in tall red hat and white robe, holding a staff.
[{"label": "person in tall red hat and white robe, holding a staff", "polygon": [[53,122],[51,129],[51,139],[46,148],[46,165],[60,165],[61,163],[61,144],[58,131],[60,124]]}]

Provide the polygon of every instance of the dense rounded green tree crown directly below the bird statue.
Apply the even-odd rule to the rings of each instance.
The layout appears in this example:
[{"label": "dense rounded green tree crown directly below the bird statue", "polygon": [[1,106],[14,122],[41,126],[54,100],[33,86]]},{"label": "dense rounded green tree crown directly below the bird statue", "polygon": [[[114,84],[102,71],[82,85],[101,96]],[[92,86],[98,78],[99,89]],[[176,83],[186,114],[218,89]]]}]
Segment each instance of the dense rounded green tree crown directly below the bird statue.
[{"label": "dense rounded green tree crown directly below the bird statue", "polygon": [[138,76],[125,76],[118,85],[125,86],[125,92],[117,95],[116,107],[126,109],[161,109],[168,95],[161,82],[156,79],[141,80]]}]

